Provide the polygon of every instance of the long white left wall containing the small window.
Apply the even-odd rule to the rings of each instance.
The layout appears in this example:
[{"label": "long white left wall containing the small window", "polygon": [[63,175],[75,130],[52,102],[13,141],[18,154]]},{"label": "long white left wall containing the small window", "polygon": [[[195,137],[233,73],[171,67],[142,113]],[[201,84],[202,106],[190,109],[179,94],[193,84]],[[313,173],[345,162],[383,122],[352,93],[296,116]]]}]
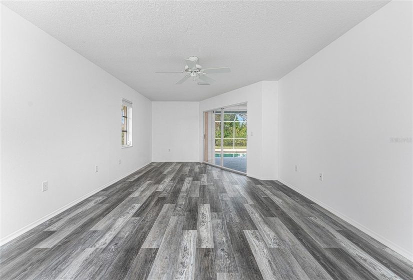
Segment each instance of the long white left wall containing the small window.
[{"label": "long white left wall containing the small window", "polygon": [[[1,38],[4,242],[150,162],[152,114],[150,100],[4,5]],[[134,110],[133,147],[124,149],[122,97]]]}]

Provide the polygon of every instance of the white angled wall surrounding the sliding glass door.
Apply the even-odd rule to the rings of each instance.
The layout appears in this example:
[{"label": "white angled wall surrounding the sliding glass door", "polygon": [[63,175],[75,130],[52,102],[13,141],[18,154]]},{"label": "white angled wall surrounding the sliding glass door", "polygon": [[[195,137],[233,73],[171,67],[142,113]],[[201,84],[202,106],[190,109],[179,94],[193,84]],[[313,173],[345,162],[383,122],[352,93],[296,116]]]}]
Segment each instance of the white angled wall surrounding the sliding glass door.
[{"label": "white angled wall surrounding the sliding glass door", "polygon": [[277,99],[277,89],[277,81],[260,81],[200,101],[199,161],[203,161],[203,111],[247,102],[247,174],[259,179],[277,179],[276,146],[271,142],[277,140],[277,104],[272,103]]}]

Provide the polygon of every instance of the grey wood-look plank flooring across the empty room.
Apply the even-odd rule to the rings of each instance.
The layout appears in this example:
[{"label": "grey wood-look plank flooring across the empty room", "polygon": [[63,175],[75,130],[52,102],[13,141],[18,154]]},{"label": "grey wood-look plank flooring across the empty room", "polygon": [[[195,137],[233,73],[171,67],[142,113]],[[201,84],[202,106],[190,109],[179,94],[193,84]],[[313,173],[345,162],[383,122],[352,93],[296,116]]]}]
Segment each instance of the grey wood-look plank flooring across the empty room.
[{"label": "grey wood-look plank flooring across the empty room", "polygon": [[278,181],[153,162],[0,248],[6,279],[413,279]]}]

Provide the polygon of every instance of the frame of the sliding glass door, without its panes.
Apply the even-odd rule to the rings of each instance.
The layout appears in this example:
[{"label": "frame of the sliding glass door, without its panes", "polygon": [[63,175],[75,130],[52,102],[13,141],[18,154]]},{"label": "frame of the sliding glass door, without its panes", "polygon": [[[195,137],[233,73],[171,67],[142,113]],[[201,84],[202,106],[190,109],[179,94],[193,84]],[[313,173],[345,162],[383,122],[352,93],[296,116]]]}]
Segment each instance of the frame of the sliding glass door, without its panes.
[{"label": "frame of the sliding glass door, without its panes", "polygon": [[[247,115],[248,115],[248,102],[247,101],[236,103],[236,104],[231,104],[231,105],[226,105],[226,106],[218,107],[218,108],[215,108],[215,109],[208,109],[208,110],[204,110],[202,112],[203,115],[204,115],[204,120],[202,121],[203,125],[204,125],[203,130],[202,130],[202,134],[203,134],[203,138],[204,138],[204,142],[203,142],[203,146],[204,146],[203,154],[204,155],[203,155],[203,159],[202,159],[203,163],[209,164],[209,165],[212,165],[212,166],[215,166],[215,167],[219,167],[221,169],[233,171],[235,173],[239,173],[239,174],[243,174],[243,175],[247,174],[247,172],[248,172],[248,119],[247,119],[247,140],[246,140],[247,141],[247,166],[246,166],[246,171],[247,172],[244,173],[242,171],[238,171],[238,170],[235,170],[235,169],[224,167],[224,109],[228,108],[228,107],[232,107],[232,106],[243,105],[243,104],[245,104],[247,106]],[[206,120],[205,120],[205,115],[206,115],[205,113],[209,112],[209,111],[214,111],[214,113],[215,113],[215,111],[217,111],[217,110],[221,110],[221,164],[220,165],[205,161],[205,154],[206,154],[206,147],[207,147],[207,137],[206,137],[207,134],[205,133],[205,127],[206,127],[207,123],[206,123]],[[215,133],[215,131],[213,133]],[[214,139],[215,139],[215,137],[214,137]],[[213,146],[214,146],[214,149],[215,149],[215,141],[214,141]],[[215,151],[214,151],[214,155],[215,155]],[[215,158],[214,158],[214,162],[215,162]]]}]

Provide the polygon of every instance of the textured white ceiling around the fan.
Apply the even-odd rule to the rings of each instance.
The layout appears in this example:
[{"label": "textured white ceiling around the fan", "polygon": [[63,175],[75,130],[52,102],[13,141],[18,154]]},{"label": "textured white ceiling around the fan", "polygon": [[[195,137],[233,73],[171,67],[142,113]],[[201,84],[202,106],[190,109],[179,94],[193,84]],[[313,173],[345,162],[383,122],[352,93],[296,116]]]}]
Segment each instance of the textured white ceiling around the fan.
[{"label": "textured white ceiling around the fan", "polygon": [[[2,1],[151,100],[202,100],[277,80],[387,1]],[[199,57],[214,85],[187,80]]]}]

